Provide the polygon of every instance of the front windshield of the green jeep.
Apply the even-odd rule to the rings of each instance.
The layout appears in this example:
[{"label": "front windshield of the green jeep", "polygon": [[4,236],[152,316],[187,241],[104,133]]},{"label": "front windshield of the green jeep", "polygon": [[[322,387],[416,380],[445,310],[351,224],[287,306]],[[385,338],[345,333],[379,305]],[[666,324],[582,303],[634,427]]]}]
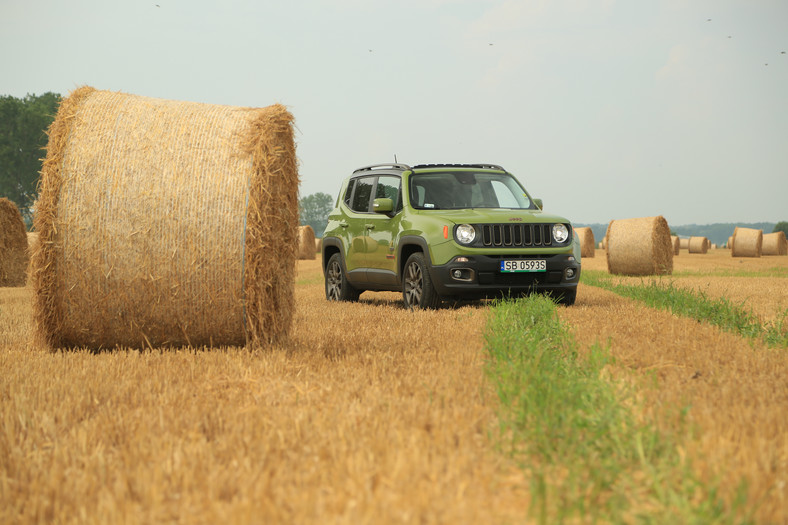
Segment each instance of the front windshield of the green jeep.
[{"label": "front windshield of the green jeep", "polygon": [[510,174],[470,171],[414,173],[410,176],[410,203],[420,210],[536,209]]}]

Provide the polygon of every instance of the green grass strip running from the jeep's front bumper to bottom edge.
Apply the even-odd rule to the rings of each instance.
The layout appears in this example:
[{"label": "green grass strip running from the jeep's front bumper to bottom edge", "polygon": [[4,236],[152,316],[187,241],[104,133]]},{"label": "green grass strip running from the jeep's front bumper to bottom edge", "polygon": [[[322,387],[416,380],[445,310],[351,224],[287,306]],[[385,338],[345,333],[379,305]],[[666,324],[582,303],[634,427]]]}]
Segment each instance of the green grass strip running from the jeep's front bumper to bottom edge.
[{"label": "green grass strip running from the jeep's front bumper to bottom edge", "polygon": [[549,299],[497,303],[485,341],[488,377],[501,400],[502,447],[530,477],[531,519],[742,522],[734,516],[743,502],[726,509],[714,488],[695,478],[673,438],[643,422],[634,398],[605,379],[609,351],[595,345],[578,355]]}]

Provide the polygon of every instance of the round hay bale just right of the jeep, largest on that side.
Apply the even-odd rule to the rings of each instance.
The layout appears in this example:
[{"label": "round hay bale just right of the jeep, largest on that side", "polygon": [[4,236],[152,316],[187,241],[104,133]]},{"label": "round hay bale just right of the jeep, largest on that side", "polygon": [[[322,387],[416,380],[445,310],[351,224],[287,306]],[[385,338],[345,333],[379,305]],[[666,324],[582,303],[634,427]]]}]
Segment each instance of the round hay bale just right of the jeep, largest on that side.
[{"label": "round hay bale just right of the jeep, largest on that side", "polygon": [[658,275],[673,272],[673,243],[661,215],[610,221],[607,269],[618,275]]}]

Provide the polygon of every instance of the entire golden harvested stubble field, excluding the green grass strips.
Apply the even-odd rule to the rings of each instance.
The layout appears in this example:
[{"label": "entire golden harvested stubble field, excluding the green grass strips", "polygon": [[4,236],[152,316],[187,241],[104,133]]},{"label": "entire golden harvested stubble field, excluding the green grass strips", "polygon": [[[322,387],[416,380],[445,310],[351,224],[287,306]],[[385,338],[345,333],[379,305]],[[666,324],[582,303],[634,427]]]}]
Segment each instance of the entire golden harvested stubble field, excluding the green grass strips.
[{"label": "entire golden harvested stubble field, excluding the green grass strips", "polygon": [[[499,447],[491,306],[327,303],[320,261],[297,266],[290,338],[253,351],[52,352],[31,343],[32,289],[0,289],[0,522],[538,523],[531,478]],[[788,283],[788,258],[712,250],[673,271],[661,279],[743,289]],[[776,318],[780,301],[758,308]],[[581,353],[609,346],[611,380],[725,504],[744,486],[754,522],[788,520],[785,348],[584,284],[557,312]]]}]

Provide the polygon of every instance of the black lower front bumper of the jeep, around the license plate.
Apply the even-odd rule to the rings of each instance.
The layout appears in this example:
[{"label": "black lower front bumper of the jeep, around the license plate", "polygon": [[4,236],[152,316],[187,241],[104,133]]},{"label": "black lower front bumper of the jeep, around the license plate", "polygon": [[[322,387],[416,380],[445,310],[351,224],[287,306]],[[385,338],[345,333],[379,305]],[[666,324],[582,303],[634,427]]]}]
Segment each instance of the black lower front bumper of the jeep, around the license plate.
[{"label": "black lower front bumper of the jeep, around the license plate", "polygon": [[[556,255],[467,255],[447,264],[433,266],[430,277],[441,297],[500,297],[529,293],[567,292],[577,289],[580,262],[571,254]],[[544,259],[544,272],[501,272],[502,259]]]}]

